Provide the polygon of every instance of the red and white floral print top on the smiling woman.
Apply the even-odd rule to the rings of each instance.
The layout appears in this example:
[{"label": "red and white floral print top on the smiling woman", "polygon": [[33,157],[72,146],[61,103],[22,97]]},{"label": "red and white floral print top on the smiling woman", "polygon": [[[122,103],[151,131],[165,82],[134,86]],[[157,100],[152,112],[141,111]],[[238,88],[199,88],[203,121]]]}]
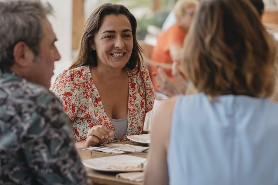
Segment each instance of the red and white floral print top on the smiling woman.
[{"label": "red and white floral print top on the smiling woman", "polygon": [[143,130],[145,113],[152,110],[155,99],[153,84],[148,70],[142,66],[127,70],[128,90],[128,129],[117,140],[112,121],[106,115],[101,97],[94,84],[89,66],[65,70],[57,76],[52,92],[62,101],[64,111],[72,121],[72,131],[76,142],[85,141],[87,132],[95,125],[105,125],[114,135],[105,143],[126,141],[128,135],[138,135]]}]

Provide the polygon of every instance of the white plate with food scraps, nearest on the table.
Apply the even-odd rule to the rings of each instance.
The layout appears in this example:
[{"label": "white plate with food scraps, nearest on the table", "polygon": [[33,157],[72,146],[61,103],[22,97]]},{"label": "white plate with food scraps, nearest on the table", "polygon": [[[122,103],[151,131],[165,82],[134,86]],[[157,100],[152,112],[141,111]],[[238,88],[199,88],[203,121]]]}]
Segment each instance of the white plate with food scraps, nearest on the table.
[{"label": "white plate with food scraps, nearest on the table", "polygon": [[[139,168],[138,165],[145,162],[147,159],[132,155],[116,155],[108,157],[100,157],[83,160],[84,166],[99,171],[110,172],[126,172],[126,171],[143,171],[144,168]],[[144,167],[146,162],[144,163]]]}]

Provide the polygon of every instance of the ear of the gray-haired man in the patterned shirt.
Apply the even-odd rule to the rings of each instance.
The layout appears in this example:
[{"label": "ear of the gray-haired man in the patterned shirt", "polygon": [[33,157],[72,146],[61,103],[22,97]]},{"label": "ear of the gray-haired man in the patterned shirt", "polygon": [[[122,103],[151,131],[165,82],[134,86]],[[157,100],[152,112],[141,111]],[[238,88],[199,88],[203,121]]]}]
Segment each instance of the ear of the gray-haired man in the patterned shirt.
[{"label": "ear of the gray-haired man in the patterned shirt", "polygon": [[19,65],[20,67],[27,67],[34,61],[35,57],[33,51],[27,46],[25,42],[22,41],[15,44],[13,54],[15,64]]}]

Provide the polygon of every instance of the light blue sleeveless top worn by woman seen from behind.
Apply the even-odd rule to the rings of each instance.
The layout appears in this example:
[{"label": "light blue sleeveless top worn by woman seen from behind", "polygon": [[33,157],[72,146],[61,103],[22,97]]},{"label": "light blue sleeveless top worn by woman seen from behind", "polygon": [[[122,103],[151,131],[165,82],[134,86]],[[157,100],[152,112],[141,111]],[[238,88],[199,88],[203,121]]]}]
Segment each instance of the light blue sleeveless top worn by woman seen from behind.
[{"label": "light blue sleeveless top worn by woman seen from behind", "polygon": [[172,185],[277,185],[278,104],[225,95],[179,96],[172,116]]}]

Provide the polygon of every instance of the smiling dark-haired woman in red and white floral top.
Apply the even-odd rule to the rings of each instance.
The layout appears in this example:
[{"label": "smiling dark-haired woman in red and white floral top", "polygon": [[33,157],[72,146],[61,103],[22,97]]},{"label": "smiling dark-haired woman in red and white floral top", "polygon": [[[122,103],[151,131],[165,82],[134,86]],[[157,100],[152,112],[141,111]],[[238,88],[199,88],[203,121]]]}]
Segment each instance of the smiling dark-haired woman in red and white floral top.
[{"label": "smiling dark-haired woman in red and white floral top", "polygon": [[53,85],[77,147],[125,141],[143,132],[155,94],[141,66],[136,26],[123,5],[97,8],[85,24],[77,57]]}]

